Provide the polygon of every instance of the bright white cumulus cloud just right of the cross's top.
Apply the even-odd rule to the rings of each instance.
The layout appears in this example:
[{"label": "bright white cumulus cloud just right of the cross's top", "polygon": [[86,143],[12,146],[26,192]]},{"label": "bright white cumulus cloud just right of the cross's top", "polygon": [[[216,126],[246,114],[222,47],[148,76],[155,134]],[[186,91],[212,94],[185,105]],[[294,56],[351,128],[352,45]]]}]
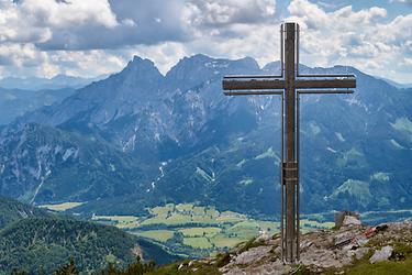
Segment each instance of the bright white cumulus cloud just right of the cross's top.
[{"label": "bright white cumulus cloud just right of the cross's top", "polygon": [[309,65],[344,64],[383,75],[386,68],[403,69],[397,61],[411,54],[412,14],[388,22],[383,8],[326,12],[308,0],[292,0],[288,11],[288,20],[300,23],[301,62]]}]

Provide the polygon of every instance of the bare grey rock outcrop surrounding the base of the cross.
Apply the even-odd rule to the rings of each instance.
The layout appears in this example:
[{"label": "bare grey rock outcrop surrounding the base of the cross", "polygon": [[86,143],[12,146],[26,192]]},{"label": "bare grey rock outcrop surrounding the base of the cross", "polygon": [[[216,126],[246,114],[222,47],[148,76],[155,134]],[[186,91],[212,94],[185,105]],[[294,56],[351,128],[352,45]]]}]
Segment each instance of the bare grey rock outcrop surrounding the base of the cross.
[{"label": "bare grey rock outcrop surrounding the base of the cross", "polygon": [[[299,270],[308,274],[341,274],[369,262],[372,268],[372,263],[379,261],[409,258],[408,253],[412,251],[412,221],[378,227],[350,224],[337,230],[305,233],[301,237],[300,261],[293,265],[283,264],[279,244],[279,234],[269,240],[257,238],[216,258],[198,261],[193,266],[199,271],[218,265],[219,272],[231,275],[291,274]],[[405,251],[409,252],[405,254]]]}]

